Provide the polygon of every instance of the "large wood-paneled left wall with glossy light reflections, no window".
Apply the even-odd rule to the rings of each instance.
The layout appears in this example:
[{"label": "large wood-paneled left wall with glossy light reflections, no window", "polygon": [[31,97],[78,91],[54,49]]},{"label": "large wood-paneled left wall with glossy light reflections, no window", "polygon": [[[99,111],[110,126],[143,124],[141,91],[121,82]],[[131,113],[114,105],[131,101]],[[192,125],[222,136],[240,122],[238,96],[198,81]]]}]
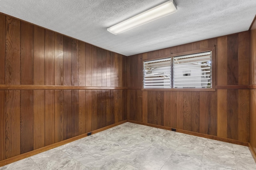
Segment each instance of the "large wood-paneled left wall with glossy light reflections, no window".
[{"label": "large wood-paneled left wall with glossy light reflections, no window", "polygon": [[0,160],[126,120],[123,58],[0,14]]}]

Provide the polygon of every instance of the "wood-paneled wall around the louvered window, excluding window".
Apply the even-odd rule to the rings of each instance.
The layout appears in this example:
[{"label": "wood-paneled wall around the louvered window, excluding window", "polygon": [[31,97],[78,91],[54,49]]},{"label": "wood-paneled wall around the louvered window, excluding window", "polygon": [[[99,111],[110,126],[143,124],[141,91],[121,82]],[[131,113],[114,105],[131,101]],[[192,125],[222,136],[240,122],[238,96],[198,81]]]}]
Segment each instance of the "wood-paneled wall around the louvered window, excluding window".
[{"label": "wood-paneled wall around the louvered window, excluding window", "polygon": [[[143,60],[216,47],[216,91],[142,89]],[[250,32],[179,45],[125,59],[128,119],[249,141]]]}]

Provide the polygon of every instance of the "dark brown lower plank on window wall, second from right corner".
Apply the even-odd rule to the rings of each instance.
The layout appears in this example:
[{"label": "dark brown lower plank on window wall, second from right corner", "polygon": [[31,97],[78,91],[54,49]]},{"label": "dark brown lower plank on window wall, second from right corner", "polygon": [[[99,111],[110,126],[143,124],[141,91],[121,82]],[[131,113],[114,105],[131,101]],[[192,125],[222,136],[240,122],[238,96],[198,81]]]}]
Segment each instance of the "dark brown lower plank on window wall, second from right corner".
[{"label": "dark brown lower plank on window wall, second from right corner", "polygon": [[238,140],[238,90],[227,90],[228,138]]}]

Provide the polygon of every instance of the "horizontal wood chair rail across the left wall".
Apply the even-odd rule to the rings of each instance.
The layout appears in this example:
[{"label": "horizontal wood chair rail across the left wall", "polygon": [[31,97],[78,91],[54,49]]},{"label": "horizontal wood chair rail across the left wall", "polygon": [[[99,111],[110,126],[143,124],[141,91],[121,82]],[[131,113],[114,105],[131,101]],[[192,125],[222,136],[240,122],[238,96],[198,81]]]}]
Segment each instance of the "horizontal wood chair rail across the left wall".
[{"label": "horizontal wood chair rail across the left wall", "polygon": [[125,90],[126,87],[55,86],[55,85],[0,85],[0,90]]}]

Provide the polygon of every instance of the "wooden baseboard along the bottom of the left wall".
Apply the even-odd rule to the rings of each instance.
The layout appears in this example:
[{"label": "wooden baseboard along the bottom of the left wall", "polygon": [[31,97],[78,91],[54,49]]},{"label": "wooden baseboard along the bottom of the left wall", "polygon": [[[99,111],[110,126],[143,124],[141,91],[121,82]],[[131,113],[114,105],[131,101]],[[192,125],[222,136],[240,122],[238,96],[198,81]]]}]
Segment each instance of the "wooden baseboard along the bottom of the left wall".
[{"label": "wooden baseboard along the bottom of the left wall", "polygon": [[[91,133],[92,133],[92,134],[95,134],[95,133],[104,131],[104,130],[106,130],[106,129],[110,129],[110,128],[112,128],[112,127],[115,127],[115,126],[117,126],[117,125],[121,125],[121,124],[123,124],[123,123],[125,123],[125,122],[127,122],[127,120],[120,121],[120,122],[118,122],[118,123],[114,123],[114,124],[109,125],[109,126],[106,126],[106,127],[102,127],[102,128],[97,129],[97,130],[95,130],[95,131],[91,131]],[[67,140],[64,140],[64,141],[60,141],[60,142],[58,142],[58,143],[54,143],[54,144],[52,144],[52,145],[48,145],[48,146],[46,146],[46,147],[42,147],[42,148],[39,148],[39,149],[36,149],[36,150],[32,150],[32,151],[30,151],[30,152],[26,152],[26,153],[24,153],[24,154],[20,154],[20,155],[14,156],[14,157],[12,157],[12,158],[8,158],[8,159],[5,159],[5,160],[1,160],[1,161],[0,161],[0,167],[1,167],[1,166],[4,166],[4,165],[7,165],[7,164],[10,164],[10,163],[12,163],[12,162],[16,162],[16,161],[18,161],[18,160],[22,160],[22,159],[24,159],[24,158],[28,158],[28,157],[33,156],[33,155],[35,155],[35,154],[39,154],[39,153],[44,152],[44,151],[46,151],[46,150],[50,150],[50,149],[59,147],[59,146],[61,146],[61,145],[64,145],[64,144],[67,144],[67,143],[76,141],[76,140],[78,140],[78,139],[82,139],[82,138],[87,137],[87,136],[88,136],[87,133],[85,133],[85,134],[82,134],[82,135],[79,135],[79,136],[76,136],[76,137],[72,137],[72,138],[67,139]]]}]

